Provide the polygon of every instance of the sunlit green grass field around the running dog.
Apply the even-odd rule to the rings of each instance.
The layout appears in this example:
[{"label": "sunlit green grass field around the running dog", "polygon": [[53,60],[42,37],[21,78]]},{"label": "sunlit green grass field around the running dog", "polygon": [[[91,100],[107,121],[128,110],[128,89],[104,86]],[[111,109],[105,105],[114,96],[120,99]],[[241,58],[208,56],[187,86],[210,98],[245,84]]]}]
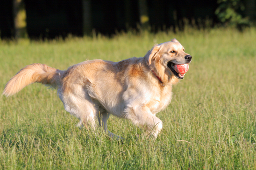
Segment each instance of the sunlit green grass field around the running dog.
[{"label": "sunlit green grass field around the running dog", "polygon": [[66,69],[85,60],[120,61],[172,38],[193,59],[170,106],[157,114],[164,128],[156,141],[114,116],[108,127],[123,143],[100,128],[78,129],[56,90],[32,84],[0,95],[0,169],[256,169],[256,28],[0,41],[0,91],[31,63]]}]

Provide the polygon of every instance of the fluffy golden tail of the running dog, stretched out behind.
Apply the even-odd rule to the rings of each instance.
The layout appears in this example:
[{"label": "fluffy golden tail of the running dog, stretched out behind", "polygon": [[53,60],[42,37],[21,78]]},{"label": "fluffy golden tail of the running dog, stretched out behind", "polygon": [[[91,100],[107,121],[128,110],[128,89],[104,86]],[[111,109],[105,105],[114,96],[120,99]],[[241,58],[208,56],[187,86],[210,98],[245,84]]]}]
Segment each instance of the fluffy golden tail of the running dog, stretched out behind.
[{"label": "fluffy golden tail of the running dog, stretched out behind", "polygon": [[22,68],[7,82],[3,95],[9,96],[19,92],[22,88],[34,82],[56,88],[61,84],[61,75],[64,71],[51,68],[45,64],[35,63]]}]

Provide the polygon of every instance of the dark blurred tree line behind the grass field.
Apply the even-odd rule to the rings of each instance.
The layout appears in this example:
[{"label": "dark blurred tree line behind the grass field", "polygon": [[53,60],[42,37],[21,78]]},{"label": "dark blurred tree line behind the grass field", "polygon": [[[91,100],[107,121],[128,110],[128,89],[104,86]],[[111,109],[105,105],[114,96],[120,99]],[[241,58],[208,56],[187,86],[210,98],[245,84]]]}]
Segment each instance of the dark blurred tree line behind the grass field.
[{"label": "dark blurred tree line behind the grass field", "polygon": [[0,0],[2,39],[176,31],[186,24],[242,30],[255,20],[256,0]]}]

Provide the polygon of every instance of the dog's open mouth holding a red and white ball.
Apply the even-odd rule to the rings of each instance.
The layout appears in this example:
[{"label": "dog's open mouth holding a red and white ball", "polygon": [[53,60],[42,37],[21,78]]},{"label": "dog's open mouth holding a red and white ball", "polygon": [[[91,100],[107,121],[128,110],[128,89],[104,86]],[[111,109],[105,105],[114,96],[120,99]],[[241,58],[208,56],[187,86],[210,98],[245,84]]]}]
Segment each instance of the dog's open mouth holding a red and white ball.
[{"label": "dog's open mouth holding a red and white ball", "polygon": [[178,78],[183,79],[186,72],[188,71],[188,64],[175,64],[173,62],[168,62],[167,66],[171,69],[171,72]]}]

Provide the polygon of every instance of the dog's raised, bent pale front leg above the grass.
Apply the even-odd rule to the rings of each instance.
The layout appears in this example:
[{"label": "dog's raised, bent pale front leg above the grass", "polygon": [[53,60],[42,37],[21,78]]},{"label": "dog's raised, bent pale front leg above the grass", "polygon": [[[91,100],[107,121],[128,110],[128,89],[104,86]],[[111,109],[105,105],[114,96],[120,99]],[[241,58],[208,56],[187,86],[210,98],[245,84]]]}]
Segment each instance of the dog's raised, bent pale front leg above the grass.
[{"label": "dog's raised, bent pale front leg above the grass", "polygon": [[147,106],[132,107],[126,109],[127,118],[137,126],[142,127],[147,134],[157,138],[163,128],[163,122],[151,113]]}]

